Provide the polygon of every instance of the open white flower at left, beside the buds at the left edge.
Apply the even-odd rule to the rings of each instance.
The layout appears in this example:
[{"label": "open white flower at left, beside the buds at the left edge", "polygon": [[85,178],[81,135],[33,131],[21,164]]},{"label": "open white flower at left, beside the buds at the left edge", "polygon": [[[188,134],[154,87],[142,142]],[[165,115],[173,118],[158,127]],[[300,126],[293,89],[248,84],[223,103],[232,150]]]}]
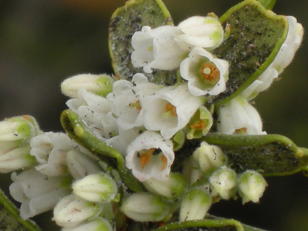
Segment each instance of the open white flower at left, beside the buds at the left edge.
[{"label": "open white flower at left, beside the buds at the left edge", "polygon": [[33,137],[30,146],[30,154],[40,163],[36,170],[48,176],[60,176],[66,172],[66,154],[74,148],[66,134],[45,132]]}]

